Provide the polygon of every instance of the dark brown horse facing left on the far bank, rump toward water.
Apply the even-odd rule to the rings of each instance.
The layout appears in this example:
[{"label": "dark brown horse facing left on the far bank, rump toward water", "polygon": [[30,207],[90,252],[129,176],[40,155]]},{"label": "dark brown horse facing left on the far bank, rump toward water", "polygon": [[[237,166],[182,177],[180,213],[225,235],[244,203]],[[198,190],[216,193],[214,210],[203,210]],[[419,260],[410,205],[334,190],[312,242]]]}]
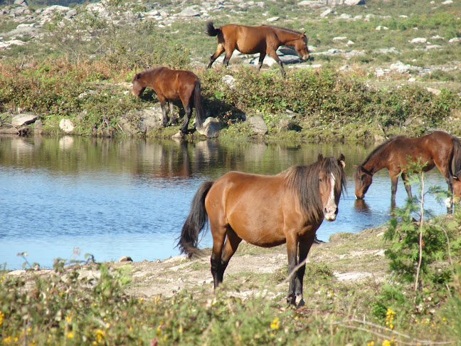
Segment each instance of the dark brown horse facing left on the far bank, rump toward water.
[{"label": "dark brown horse facing left on the far bank, rump toward water", "polygon": [[157,67],[136,73],[133,76],[132,83],[132,93],[134,96],[140,96],[147,87],[151,87],[154,89],[155,93],[157,93],[157,98],[159,98],[161,112],[163,114],[162,125],[164,127],[168,122],[165,102],[168,101],[169,103],[171,125],[174,125],[177,118],[174,116],[174,105],[172,100],[179,99],[181,99],[185,112],[181,132],[187,132],[189,118],[192,113],[192,105],[194,105],[196,109],[197,127],[202,127],[204,112],[200,95],[201,85],[195,73],[188,70],[171,70],[167,67]]}]

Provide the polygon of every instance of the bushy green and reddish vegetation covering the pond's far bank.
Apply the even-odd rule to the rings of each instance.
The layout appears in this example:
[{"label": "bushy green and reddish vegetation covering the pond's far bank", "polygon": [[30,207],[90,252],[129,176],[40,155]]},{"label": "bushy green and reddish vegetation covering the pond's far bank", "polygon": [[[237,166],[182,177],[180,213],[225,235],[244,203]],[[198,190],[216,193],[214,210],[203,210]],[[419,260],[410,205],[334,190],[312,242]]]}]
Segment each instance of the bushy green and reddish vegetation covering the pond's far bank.
[{"label": "bushy green and reddish vegetation covering the pond's far bank", "polygon": [[[58,123],[65,117],[73,120],[78,135],[91,135],[92,127],[100,135],[123,135],[122,119],[137,128],[137,110],[157,103],[152,90],[141,99],[129,93],[136,70],[110,61],[75,65],[47,59],[21,67],[18,61],[0,63],[1,123],[10,122],[18,111],[33,112],[47,133],[59,133]],[[461,135],[460,96],[453,90],[436,95],[411,83],[376,88],[361,70],[339,73],[331,68],[290,70],[286,80],[277,70],[256,73],[245,66],[196,73],[208,114],[223,125],[222,137],[252,137],[245,119],[253,115],[263,116],[269,127],[266,138],[275,140],[366,141],[375,135],[416,136],[433,129]],[[225,75],[235,81],[223,83]],[[160,129],[150,135],[168,137],[175,131]]]}]

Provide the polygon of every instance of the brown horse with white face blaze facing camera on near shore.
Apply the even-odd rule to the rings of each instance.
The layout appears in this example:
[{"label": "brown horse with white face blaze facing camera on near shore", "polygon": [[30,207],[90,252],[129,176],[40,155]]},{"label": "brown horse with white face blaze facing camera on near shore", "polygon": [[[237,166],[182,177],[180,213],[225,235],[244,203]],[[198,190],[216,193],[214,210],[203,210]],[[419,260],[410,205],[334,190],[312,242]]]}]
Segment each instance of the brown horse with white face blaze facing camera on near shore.
[{"label": "brown horse with white face blaze facing camera on near shore", "polygon": [[287,302],[301,303],[304,260],[323,219],[336,219],[345,184],[343,154],[339,159],[319,154],[314,164],[290,167],[274,176],[229,172],[198,188],[179,236],[179,249],[189,256],[196,253],[198,234],[209,219],[216,288],[242,239],[266,248],[287,243],[292,275]]}]

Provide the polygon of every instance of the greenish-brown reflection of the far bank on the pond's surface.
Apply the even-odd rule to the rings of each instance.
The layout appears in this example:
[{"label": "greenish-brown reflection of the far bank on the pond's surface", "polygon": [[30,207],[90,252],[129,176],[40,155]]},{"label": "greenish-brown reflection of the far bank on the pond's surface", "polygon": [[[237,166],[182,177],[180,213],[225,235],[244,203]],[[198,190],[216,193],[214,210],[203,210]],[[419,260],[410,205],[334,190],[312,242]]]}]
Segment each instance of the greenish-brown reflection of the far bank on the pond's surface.
[{"label": "greenish-brown reflection of the far bank on the pond's surface", "polygon": [[[346,174],[355,157],[366,149],[352,145],[313,145],[295,142],[251,143],[202,141],[195,144],[170,140],[110,140],[87,137],[4,137],[1,164],[56,172],[97,172],[108,169],[152,177],[219,177],[230,170],[278,174],[297,164],[311,164],[324,156],[346,156]],[[359,159],[356,160],[359,162]],[[204,173],[205,172],[205,173]]]}]

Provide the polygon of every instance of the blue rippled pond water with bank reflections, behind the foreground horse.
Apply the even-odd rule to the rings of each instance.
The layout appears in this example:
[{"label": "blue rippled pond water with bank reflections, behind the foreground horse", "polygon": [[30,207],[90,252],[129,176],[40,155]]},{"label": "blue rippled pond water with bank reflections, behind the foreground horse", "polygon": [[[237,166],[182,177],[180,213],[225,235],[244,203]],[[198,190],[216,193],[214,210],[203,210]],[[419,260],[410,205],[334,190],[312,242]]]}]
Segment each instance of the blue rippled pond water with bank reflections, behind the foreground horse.
[{"label": "blue rippled pond water with bank reflections, behind the foreground horse", "polygon": [[[277,174],[311,164],[319,153],[346,156],[347,190],[334,222],[324,221],[317,237],[358,232],[390,218],[391,187],[381,170],[364,201],[354,199],[352,172],[373,147],[356,144],[297,144],[102,140],[80,137],[0,137],[0,263],[22,268],[53,266],[54,258],[96,261],[154,261],[176,256],[176,237],[201,182],[230,170]],[[440,172],[426,185],[446,188]],[[415,191],[417,187],[413,187]],[[406,192],[399,182],[397,206]],[[426,206],[444,214],[429,196]],[[211,246],[206,232],[201,247]]]}]

